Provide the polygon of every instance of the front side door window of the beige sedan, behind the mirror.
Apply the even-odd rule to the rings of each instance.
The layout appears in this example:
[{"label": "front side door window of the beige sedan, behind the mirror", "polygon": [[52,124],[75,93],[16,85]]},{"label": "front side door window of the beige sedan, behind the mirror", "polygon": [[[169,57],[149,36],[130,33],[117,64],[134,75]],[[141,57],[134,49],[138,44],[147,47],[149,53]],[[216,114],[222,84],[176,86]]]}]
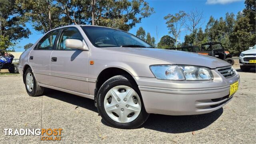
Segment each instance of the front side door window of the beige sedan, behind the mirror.
[{"label": "front side door window of the beige sedan, behind the mirror", "polygon": [[76,39],[76,40],[83,40],[80,32],[76,28],[65,28],[62,31],[60,36],[60,41],[58,44],[58,50],[72,50],[71,48],[67,48],[65,45],[66,39]]}]

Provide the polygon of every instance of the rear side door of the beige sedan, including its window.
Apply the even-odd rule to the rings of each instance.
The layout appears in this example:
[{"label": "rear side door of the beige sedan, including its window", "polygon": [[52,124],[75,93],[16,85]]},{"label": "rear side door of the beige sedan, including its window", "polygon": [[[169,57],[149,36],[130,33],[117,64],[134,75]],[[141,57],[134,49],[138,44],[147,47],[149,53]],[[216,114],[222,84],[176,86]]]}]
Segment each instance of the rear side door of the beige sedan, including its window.
[{"label": "rear side door of the beige sedan, including its window", "polygon": [[29,62],[39,83],[50,84],[50,56],[60,30],[46,34],[29,54]]}]

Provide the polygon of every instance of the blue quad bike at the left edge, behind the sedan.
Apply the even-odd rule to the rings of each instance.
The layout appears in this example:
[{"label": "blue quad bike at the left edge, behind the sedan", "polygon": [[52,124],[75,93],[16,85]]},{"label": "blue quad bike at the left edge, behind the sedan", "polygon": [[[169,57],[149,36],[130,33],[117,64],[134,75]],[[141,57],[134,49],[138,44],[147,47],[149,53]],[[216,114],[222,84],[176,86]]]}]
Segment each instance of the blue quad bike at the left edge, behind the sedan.
[{"label": "blue quad bike at the left edge, behind the sedan", "polygon": [[0,70],[8,69],[10,73],[18,73],[18,64],[12,64],[14,56],[5,52],[5,50],[0,50]]}]

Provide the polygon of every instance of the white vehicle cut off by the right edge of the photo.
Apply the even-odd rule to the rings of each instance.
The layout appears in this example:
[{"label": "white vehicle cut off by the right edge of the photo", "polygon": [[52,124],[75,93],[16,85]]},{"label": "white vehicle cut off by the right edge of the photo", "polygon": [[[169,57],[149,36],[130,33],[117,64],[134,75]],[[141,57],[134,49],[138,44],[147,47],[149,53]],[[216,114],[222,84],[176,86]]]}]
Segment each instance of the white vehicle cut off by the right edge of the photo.
[{"label": "white vehicle cut off by the right edge of the photo", "polygon": [[240,69],[248,72],[251,68],[256,67],[256,45],[249,50],[241,52],[239,56]]}]

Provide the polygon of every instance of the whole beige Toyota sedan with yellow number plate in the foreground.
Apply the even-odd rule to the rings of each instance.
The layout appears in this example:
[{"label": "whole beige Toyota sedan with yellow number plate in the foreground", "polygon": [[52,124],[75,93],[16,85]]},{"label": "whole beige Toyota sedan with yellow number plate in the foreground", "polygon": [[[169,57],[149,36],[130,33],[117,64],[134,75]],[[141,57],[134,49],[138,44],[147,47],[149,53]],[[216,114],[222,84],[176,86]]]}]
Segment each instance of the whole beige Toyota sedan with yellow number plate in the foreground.
[{"label": "whole beige Toyota sedan with yellow number plate in the foreground", "polygon": [[153,48],[122,30],[72,25],[46,33],[20,56],[30,96],[44,87],[94,99],[102,119],[137,128],[150,113],[204,114],[238,90],[239,75],[223,60]]}]

